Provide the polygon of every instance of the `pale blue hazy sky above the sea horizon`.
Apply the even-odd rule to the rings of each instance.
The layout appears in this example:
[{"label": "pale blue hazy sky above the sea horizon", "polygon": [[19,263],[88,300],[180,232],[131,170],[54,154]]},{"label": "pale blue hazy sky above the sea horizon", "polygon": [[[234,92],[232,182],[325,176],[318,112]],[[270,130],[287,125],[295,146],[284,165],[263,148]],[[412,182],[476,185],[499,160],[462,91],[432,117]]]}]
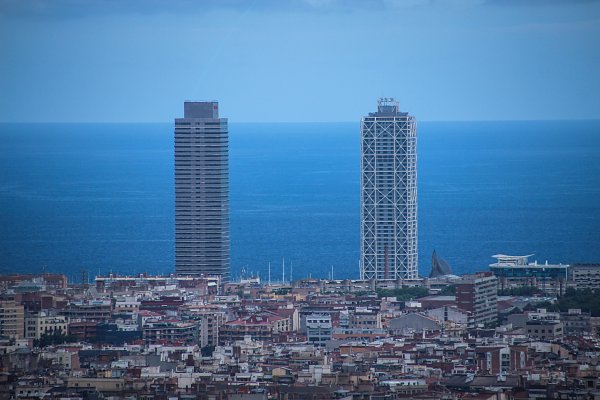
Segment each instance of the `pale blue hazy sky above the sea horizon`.
[{"label": "pale blue hazy sky above the sea horizon", "polygon": [[600,1],[0,0],[0,122],[600,118]]}]

